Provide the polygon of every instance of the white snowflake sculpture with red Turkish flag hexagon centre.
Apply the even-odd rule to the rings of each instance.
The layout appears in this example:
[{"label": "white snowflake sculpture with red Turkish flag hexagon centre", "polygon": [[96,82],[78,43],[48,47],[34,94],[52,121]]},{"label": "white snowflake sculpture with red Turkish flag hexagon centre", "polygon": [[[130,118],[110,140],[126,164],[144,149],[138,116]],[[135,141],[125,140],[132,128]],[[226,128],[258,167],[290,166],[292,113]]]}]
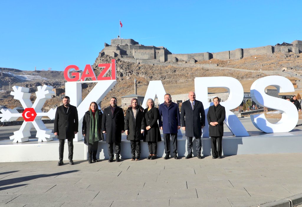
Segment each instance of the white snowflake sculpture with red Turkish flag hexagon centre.
[{"label": "white snowflake sculpture with red Turkish flag hexagon centre", "polygon": [[52,120],[55,118],[56,109],[50,109],[47,113],[42,113],[41,110],[45,101],[50,99],[51,95],[54,94],[52,91],[53,87],[43,85],[43,87],[38,86],[37,88],[37,99],[34,103],[31,103],[31,93],[29,93],[29,88],[19,86],[13,87],[14,91],[11,91],[11,95],[14,96],[14,99],[20,101],[24,108],[24,112],[22,114],[15,109],[1,109],[1,122],[16,121],[21,116],[24,118],[24,122],[22,123],[20,130],[14,131],[14,135],[9,137],[14,140],[13,143],[29,141],[32,125],[34,125],[37,130],[36,137],[38,138],[38,142],[51,141],[53,140],[53,137],[55,137],[52,130],[46,128],[41,120],[42,116],[48,116]]}]

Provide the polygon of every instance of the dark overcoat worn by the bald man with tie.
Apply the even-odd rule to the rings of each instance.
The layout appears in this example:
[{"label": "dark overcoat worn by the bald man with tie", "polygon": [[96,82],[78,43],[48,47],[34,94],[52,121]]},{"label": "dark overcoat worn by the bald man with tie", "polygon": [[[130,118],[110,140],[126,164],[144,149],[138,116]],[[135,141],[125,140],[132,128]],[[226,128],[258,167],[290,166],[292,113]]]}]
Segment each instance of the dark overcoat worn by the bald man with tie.
[{"label": "dark overcoat worn by the bald man with tie", "polygon": [[201,126],[205,125],[204,105],[201,101],[195,100],[194,110],[190,100],[183,102],[180,117],[182,127],[186,127],[185,135],[187,137],[201,136]]}]

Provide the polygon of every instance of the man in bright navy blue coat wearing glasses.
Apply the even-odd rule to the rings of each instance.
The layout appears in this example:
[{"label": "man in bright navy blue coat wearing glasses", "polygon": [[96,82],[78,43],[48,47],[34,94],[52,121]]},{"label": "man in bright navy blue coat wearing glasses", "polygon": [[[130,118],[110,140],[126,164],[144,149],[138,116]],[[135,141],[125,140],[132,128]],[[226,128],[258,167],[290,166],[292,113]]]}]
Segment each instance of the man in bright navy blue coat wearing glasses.
[{"label": "man in bright navy blue coat wearing glasses", "polygon": [[177,157],[177,132],[180,129],[180,115],[178,105],[171,100],[170,94],[165,94],[165,102],[159,105],[159,128],[164,134],[165,153],[164,159],[170,158],[170,134],[172,136],[172,156]]}]

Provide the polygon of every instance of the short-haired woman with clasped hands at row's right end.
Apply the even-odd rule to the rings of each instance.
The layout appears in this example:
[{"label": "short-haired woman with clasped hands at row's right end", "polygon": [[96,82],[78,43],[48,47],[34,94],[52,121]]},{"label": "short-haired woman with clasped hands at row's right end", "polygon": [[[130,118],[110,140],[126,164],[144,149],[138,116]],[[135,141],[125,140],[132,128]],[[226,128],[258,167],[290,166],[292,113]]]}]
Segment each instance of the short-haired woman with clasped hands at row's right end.
[{"label": "short-haired woman with clasped hands at row's right end", "polygon": [[[211,137],[213,159],[221,158],[223,121],[226,118],[226,110],[221,106],[218,97],[213,99],[214,105],[209,107],[207,121],[209,123],[209,136]],[[218,143],[218,152],[217,152]]]}]

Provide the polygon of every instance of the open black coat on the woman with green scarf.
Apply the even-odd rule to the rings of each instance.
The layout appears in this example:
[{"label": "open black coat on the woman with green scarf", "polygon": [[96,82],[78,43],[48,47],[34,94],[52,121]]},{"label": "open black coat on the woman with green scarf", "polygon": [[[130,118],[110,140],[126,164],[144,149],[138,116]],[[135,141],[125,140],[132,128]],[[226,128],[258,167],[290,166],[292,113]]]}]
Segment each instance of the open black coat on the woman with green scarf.
[{"label": "open black coat on the woman with green scarf", "polygon": [[[103,113],[98,111],[98,132],[99,132],[99,141],[104,140],[104,135],[102,132],[102,117]],[[89,143],[89,134],[90,134],[90,112],[86,111],[84,118],[83,118],[83,125],[82,125],[82,134],[85,134],[84,143],[88,145]]]}]

